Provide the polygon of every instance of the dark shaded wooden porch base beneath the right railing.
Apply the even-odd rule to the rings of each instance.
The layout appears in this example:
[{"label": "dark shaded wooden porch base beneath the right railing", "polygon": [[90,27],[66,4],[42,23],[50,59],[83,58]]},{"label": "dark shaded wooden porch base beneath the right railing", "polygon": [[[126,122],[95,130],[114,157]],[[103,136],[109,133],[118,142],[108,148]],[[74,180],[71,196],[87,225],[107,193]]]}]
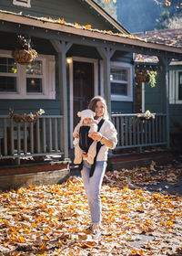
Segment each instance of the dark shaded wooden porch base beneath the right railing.
[{"label": "dark shaded wooden porch base beneath the right railing", "polygon": [[141,154],[111,155],[109,157],[109,169],[121,170],[122,168],[132,169],[136,166],[149,166],[152,161],[157,165],[170,163],[173,155],[169,151],[149,152]]}]

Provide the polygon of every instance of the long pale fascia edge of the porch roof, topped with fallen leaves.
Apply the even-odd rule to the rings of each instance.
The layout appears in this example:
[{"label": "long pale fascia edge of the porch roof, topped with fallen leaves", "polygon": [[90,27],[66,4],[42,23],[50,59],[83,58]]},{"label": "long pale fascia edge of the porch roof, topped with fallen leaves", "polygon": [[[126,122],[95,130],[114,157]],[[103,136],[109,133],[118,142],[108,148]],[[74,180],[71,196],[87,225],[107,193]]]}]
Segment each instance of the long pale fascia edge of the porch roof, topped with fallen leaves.
[{"label": "long pale fascia edge of the porch roof, topped with fallen leaves", "polygon": [[[104,42],[112,42],[113,44],[123,44],[124,47],[132,46],[133,52],[139,48],[150,48],[157,51],[167,51],[182,54],[182,48],[176,48],[174,45],[167,46],[165,44],[149,43],[142,37],[135,35],[126,35],[124,33],[113,33],[112,31],[98,30],[90,25],[80,26],[79,24],[66,23],[64,19],[53,19],[47,17],[36,17],[22,15],[22,13],[13,13],[0,10],[0,20],[2,22],[14,23],[17,26],[25,25],[29,27],[39,27],[46,30],[53,30],[60,33],[67,33],[81,37],[92,38],[93,40],[102,40]],[[3,24],[3,23],[2,23]],[[136,51],[137,52],[137,51]]]}]

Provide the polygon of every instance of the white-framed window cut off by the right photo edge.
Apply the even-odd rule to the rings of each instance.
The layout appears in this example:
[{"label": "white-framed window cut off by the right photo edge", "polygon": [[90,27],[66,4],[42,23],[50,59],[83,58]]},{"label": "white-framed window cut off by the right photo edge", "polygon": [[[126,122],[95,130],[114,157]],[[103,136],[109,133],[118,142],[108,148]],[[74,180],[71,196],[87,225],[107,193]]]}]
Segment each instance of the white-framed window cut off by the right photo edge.
[{"label": "white-framed window cut off by the right photo edge", "polygon": [[182,104],[182,69],[169,70],[169,102]]}]

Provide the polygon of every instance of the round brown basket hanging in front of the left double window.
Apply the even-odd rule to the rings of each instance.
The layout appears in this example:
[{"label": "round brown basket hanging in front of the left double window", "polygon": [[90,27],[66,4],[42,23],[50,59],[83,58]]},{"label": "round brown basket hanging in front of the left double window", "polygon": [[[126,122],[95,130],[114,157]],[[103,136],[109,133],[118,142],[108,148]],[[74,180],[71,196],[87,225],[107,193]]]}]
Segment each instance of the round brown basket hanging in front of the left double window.
[{"label": "round brown basket hanging in front of the left double window", "polygon": [[15,59],[15,62],[21,65],[29,64],[35,59],[36,55],[37,53],[34,49],[26,50],[15,48],[15,50],[12,51],[12,57]]}]

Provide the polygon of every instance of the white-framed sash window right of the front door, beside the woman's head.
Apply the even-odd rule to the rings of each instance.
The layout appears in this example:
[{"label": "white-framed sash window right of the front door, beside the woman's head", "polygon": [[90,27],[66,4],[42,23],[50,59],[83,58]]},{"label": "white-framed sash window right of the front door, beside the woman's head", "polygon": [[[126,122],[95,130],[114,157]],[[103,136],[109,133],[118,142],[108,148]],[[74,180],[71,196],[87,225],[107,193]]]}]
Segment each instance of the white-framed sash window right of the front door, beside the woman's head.
[{"label": "white-framed sash window right of the front door, beside the woman's head", "polygon": [[112,101],[133,101],[132,65],[121,62],[111,62],[110,83]]}]

